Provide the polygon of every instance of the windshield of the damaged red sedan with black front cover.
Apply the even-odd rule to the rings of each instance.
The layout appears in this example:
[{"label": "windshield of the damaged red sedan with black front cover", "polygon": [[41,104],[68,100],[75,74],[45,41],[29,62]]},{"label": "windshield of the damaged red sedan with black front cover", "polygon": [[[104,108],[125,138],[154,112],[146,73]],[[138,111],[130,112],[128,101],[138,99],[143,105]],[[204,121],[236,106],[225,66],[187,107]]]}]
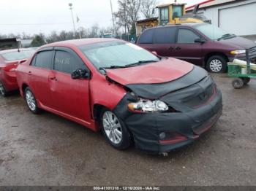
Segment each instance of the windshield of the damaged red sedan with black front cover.
[{"label": "windshield of the damaged red sedan with black front cover", "polygon": [[159,58],[128,42],[100,42],[80,47],[80,50],[97,69],[114,69],[159,61]]}]

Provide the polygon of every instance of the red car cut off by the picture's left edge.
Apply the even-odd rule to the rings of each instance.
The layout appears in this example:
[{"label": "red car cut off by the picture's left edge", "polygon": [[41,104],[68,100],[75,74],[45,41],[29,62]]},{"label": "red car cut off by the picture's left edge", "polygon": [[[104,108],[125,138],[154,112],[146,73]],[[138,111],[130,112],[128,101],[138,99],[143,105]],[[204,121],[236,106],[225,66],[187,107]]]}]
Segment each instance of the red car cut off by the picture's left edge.
[{"label": "red car cut off by the picture's left edge", "polygon": [[5,96],[13,90],[18,90],[15,69],[18,63],[23,63],[35,50],[12,49],[0,51],[0,95]]}]

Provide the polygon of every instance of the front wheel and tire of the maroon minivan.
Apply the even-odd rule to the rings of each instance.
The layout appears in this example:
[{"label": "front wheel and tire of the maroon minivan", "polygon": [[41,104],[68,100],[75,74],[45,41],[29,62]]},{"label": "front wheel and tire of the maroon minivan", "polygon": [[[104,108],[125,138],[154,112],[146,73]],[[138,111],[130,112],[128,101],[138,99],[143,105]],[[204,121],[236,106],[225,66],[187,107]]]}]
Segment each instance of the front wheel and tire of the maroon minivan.
[{"label": "front wheel and tire of the maroon minivan", "polygon": [[227,71],[227,61],[221,55],[213,55],[208,58],[206,69],[212,73],[225,73]]}]

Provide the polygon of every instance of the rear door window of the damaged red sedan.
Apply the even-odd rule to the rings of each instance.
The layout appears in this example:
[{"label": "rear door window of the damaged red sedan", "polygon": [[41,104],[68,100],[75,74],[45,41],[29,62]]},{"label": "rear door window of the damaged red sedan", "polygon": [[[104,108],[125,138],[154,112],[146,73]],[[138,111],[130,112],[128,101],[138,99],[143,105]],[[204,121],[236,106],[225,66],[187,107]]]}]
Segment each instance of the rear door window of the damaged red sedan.
[{"label": "rear door window of the damaged red sedan", "polygon": [[38,52],[32,61],[33,66],[51,69],[52,68],[53,50]]}]

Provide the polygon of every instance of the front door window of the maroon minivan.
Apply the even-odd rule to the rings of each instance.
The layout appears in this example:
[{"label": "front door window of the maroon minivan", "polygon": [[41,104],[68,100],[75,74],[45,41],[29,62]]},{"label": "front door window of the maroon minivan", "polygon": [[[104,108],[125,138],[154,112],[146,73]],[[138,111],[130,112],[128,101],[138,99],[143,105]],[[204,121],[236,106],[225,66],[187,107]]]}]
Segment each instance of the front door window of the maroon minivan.
[{"label": "front door window of the maroon minivan", "polygon": [[179,29],[178,30],[178,44],[192,44],[195,43],[195,39],[200,38],[197,34],[189,29]]}]

